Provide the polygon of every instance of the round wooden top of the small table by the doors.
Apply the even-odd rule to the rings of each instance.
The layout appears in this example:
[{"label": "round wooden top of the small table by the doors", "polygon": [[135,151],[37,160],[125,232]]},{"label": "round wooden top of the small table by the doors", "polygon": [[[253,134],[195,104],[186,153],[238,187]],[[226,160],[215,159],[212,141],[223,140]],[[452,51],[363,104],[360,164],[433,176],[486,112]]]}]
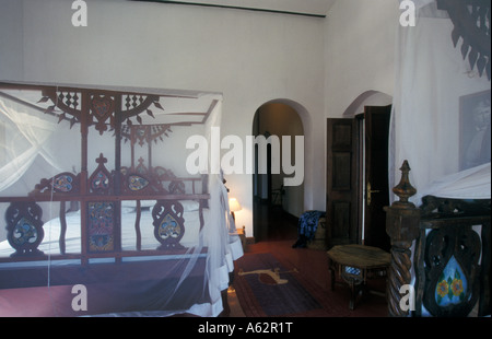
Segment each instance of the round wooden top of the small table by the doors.
[{"label": "round wooden top of the small table by the doors", "polygon": [[361,269],[387,267],[391,255],[380,248],[364,245],[338,245],[327,252],[328,257],[344,266]]}]

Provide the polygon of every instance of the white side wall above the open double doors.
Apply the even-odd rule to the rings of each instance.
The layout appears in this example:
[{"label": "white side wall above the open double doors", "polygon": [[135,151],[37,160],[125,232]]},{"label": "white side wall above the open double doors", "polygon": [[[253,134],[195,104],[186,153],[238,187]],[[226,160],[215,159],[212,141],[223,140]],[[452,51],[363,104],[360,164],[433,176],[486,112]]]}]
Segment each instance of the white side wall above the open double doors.
[{"label": "white side wall above the open double doors", "polygon": [[389,96],[395,82],[395,0],[338,0],[325,27],[325,116],[341,118],[363,93]]}]

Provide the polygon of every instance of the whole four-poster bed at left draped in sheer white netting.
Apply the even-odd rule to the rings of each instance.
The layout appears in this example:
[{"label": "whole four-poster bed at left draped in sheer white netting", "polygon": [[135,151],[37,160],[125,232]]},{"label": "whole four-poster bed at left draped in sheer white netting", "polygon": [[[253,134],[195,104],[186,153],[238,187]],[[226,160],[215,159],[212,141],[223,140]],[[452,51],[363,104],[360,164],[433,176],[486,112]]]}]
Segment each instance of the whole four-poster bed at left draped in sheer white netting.
[{"label": "whole four-poster bed at left draped in sheer white netting", "polygon": [[[242,249],[222,178],[187,171],[186,140],[209,137],[221,104],[198,91],[0,83],[4,315],[15,293],[47,304],[33,315],[219,315]],[[75,285],[85,308],[70,303]]]}]

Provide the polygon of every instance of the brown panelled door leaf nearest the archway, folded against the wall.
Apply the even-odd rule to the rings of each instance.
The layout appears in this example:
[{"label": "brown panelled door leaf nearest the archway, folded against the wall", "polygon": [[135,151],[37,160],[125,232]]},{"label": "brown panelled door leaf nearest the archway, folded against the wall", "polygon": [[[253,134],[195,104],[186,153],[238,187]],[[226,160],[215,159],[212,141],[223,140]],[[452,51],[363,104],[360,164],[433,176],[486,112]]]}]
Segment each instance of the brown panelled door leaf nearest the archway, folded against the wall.
[{"label": "brown panelled door leaf nearest the archway, folded against the wall", "polygon": [[358,224],[358,122],[327,119],[327,245],[356,244]]}]

